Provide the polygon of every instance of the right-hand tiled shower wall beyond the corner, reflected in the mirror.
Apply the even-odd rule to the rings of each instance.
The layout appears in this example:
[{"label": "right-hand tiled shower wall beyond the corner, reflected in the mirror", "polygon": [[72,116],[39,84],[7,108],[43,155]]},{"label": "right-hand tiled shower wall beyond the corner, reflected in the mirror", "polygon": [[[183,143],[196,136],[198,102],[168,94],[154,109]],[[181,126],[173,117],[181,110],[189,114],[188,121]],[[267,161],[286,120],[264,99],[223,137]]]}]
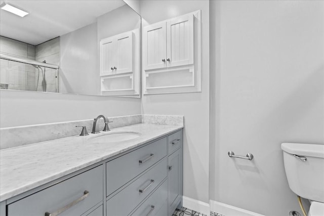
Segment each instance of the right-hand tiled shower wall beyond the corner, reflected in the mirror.
[{"label": "right-hand tiled shower wall beyond the corner, reflected in the mirror", "polygon": [[[43,44],[35,46],[35,60],[49,64],[60,64],[60,38],[48,40]],[[44,69],[44,67],[43,67]],[[56,92],[56,69],[45,69],[46,92]],[[36,77],[37,83],[37,77]],[[37,91],[44,92],[43,90],[43,76],[39,76]]]}]

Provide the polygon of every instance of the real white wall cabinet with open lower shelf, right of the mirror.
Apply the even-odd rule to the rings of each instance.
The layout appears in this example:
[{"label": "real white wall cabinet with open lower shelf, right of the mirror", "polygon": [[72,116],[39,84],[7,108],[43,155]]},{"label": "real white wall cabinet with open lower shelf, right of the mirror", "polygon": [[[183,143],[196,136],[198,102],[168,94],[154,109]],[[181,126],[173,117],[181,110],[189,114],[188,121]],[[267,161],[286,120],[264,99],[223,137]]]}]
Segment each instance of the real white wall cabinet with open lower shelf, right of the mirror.
[{"label": "real white wall cabinet with open lower shelf, right of the mirror", "polygon": [[143,28],[144,94],[201,91],[201,12]]}]

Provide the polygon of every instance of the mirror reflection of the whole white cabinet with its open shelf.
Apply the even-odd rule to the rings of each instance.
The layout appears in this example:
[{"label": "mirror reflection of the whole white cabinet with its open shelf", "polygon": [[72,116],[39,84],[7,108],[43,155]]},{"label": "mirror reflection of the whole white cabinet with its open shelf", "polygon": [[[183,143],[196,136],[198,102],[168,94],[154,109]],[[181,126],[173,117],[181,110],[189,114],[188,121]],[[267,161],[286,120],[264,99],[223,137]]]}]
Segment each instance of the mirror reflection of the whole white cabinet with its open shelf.
[{"label": "mirror reflection of the whole white cabinet with its open shelf", "polygon": [[100,40],[101,95],[140,95],[139,46],[139,29]]}]

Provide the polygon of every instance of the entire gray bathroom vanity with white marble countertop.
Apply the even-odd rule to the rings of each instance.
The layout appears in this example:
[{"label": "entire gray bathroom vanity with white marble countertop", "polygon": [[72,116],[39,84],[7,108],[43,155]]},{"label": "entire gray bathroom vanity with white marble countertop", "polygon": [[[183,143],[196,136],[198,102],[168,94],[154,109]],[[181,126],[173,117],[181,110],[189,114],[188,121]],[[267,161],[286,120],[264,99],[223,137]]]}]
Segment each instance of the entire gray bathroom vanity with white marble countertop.
[{"label": "entire gray bathroom vanity with white marble countertop", "polygon": [[[172,215],[182,204],[182,127],[140,123],[4,149],[0,214]],[[125,132],[138,136],[113,141]]]}]

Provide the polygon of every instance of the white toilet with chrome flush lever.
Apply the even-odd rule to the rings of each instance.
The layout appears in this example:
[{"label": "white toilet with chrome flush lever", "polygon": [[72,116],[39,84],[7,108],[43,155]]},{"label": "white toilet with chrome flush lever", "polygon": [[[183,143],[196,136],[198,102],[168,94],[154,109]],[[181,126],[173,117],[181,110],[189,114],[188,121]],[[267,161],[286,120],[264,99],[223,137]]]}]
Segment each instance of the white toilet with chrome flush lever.
[{"label": "white toilet with chrome flush lever", "polygon": [[308,216],[323,216],[324,145],[282,143],[281,149],[290,189],[311,201]]}]

